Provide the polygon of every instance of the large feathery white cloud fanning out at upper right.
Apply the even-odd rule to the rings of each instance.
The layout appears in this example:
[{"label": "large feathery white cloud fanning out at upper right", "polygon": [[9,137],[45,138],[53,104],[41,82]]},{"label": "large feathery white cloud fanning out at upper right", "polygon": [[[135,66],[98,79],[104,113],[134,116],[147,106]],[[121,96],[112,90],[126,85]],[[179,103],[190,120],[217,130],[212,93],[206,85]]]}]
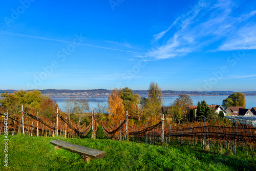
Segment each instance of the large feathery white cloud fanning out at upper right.
[{"label": "large feathery white cloud fanning out at upper right", "polygon": [[245,12],[231,0],[197,4],[153,36],[157,44],[147,55],[159,60],[200,51],[256,49],[255,15],[255,10]]}]

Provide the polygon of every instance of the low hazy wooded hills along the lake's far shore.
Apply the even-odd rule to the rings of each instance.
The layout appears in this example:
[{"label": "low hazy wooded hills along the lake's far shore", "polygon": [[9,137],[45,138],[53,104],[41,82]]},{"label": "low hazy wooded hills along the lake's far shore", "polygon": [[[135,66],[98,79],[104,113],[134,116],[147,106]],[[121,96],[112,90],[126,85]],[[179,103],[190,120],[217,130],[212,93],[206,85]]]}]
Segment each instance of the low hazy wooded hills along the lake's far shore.
[{"label": "low hazy wooded hills along the lake's far shore", "polygon": [[[0,90],[0,93],[13,93],[16,90]],[[31,90],[28,90],[31,91]],[[39,90],[42,94],[48,96],[109,96],[111,90],[106,89],[93,89],[93,90],[57,90],[57,89],[46,89]],[[134,94],[139,94],[140,96],[147,96],[147,90],[133,90]],[[234,92],[232,91],[211,91],[211,92],[197,92],[197,91],[173,91],[164,90],[162,91],[163,96],[178,96],[180,94],[188,94],[190,96],[228,96]],[[256,91],[242,92],[247,96],[256,96]]]}]

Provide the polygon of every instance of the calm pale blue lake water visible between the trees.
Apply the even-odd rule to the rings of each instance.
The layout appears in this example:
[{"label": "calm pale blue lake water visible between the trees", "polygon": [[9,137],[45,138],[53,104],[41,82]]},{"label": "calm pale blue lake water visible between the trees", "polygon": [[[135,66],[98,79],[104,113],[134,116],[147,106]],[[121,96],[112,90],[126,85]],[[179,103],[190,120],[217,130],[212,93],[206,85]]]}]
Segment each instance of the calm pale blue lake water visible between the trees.
[{"label": "calm pale blue lake water visible between the trees", "polygon": [[[169,106],[170,103],[173,103],[174,100],[177,98],[178,96],[165,96],[163,97],[164,102],[163,105],[164,106]],[[63,109],[63,105],[65,104],[65,100],[68,99],[70,97],[52,97],[53,100],[55,100],[57,102],[57,104],[59,105],[59,108],[64,111]],[[80,97],[83,98],[83,97]],[[198,101],[202,101],[205,100],[207,104],[218,104],[221,105],[223,99],[227,98],[227,96],[190,96],[190,98],[193,100],[194,105],[197,105]],[[88,100],[89,105],[90,105],[90,109],[92,108],[96,108],[97,104],[104,104],[106,103],[106,105],[108,106],[108,97],[105,98],[85,98]],[[256,96],[245,96],[246,99],[246,108],[247,109],[251,109],[252,107],[256,107]]]}]

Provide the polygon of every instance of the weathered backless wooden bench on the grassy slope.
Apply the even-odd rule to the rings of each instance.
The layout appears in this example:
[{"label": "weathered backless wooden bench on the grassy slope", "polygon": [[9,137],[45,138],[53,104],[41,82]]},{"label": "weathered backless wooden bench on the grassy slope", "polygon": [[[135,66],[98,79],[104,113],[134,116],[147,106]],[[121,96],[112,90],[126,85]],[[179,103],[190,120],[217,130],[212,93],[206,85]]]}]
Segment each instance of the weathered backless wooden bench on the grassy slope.
[{"label": "weathered backless wooden bench on the grassy slope", "polygon": [[90,162],[91,159],[102,159],[106,155],[106,152],[84,147],[81,145],[72,144],[70,142],[62,140],[52,140],[50,143],[57,146],[57,148],[55,147],[55,149],[63,148],[67,149],[70,152],[82,155],[82,160],[87,162]]}]

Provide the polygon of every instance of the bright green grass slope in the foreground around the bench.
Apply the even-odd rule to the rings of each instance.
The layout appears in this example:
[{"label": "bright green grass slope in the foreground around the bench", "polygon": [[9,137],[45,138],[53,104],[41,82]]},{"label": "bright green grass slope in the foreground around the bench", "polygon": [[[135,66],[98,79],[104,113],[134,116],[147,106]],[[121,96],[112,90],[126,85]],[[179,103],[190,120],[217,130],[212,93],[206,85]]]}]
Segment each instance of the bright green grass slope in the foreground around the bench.
[{"label": "bright green grass slope in the foreground around the bench", "polygon": [[[0,136],[0,170],[256,170],[256,161],[244,156],[220,155],[200,147],[149,145],[107,139],[9,136],[8,167],[4,166],[4,136]],[[82,162],[65,149],[54,149],[60,139],[106,152],[103,159]]]}]

